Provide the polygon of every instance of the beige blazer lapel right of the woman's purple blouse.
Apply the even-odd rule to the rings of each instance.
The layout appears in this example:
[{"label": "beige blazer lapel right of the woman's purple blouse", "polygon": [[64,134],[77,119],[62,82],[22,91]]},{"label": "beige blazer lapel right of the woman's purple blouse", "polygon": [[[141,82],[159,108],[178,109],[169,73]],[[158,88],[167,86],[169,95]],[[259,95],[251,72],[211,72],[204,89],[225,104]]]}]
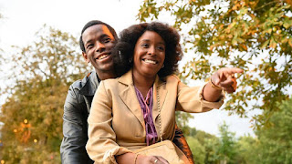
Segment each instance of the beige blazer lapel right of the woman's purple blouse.
[{"label": "beige blazer lapel right of the woman's purple blouse", "polygon": [[[163,82],[160,80],[158,76],[155,78],[155,82],[153,85],[153,108],[152,108],[152,117],[153,121],[158,118],[159,115],[159,108],[162,110],[165,97],[167,95],[167,90],[166,90],[166,82]],[[158,98],[159,98],[159,108],[158,108]]]}]

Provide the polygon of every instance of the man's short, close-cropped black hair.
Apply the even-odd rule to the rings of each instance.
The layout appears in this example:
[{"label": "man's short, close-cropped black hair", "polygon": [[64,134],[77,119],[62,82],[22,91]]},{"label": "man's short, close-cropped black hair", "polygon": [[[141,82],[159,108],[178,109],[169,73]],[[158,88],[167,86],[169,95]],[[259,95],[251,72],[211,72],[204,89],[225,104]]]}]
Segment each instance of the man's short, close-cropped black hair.
[{"label": "man's short, close-cropped black hair", "polygon": [[95,26],[95,25],[107,26],[110,30],[111,35],[115,38],[115,40],[118,40],[118,36],[117,36],[116,31],[110,25],[108,25],[104,22],[101,22],[99,20],[92,20],[92,21],[89,21],[85,26],[83,26],[82,31],[81,31],[81,36],[79,38],[79,45],[80,45],[82,52],[85,52],[85,47],[84,47],[84,43],[82,40],[82,35],[86,29],[88,29],[90,26]]}]

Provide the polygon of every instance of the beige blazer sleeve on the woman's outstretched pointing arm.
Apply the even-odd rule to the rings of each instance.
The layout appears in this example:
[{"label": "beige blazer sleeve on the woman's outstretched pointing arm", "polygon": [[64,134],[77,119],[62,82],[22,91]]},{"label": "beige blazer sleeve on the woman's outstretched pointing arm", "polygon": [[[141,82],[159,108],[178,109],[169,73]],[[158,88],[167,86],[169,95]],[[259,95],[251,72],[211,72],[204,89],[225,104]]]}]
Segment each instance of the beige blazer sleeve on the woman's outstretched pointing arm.
[{"label": "beige blazer sleeve on the woman's outstretched pointing arm", "polygon": [[[178,77],[177,77],[178,78]],[[224,91],[222,97],[217,102],[209,102],[203,99],[203,87],[188,87],[180,80],[177,87],[177,110],[182,110],[189,113],[199,113],[219,109],[224,104]]]}]

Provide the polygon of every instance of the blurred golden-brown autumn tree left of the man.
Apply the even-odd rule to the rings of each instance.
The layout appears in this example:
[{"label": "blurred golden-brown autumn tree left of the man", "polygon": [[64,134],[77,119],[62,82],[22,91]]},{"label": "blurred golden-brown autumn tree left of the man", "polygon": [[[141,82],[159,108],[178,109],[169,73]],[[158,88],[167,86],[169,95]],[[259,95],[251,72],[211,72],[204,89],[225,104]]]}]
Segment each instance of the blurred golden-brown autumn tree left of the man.
[{"label": "blurred golden-brown autumn tree left of the man", "polygon": [[[77,39],[44,26],[36,42],[3,60],[11,68],[0,122],[7,163],[60,163],[63,105],[68,86],[87,70]],[[84,75],[84,74],[83,74]]]}]

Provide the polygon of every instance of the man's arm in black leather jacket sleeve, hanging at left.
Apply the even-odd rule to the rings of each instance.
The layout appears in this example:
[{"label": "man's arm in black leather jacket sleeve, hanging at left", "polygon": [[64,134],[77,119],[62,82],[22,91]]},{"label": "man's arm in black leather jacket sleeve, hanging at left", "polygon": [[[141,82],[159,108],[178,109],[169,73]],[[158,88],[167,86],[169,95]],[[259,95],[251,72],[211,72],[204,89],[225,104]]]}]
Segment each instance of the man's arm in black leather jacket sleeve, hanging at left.
[{"label": "man's arm in black leather jacket sleeve, hanging at left", "polygon": [[70,86],[64,105],[62,163],[93,163],[85,149],[88,141],[87,109],[78,90]]}]

